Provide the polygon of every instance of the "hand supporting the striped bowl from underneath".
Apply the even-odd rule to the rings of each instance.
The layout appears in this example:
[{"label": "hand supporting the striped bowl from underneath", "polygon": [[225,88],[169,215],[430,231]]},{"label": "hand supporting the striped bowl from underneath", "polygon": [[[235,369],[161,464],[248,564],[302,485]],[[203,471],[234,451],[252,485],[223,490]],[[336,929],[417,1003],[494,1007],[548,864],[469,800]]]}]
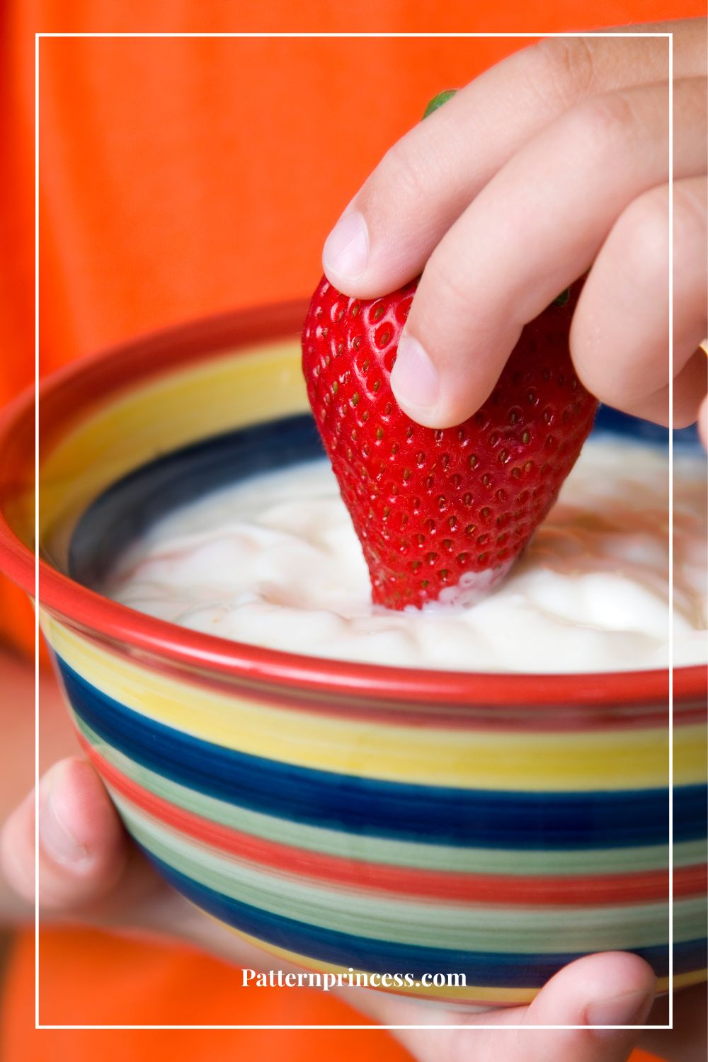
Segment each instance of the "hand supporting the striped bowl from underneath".
[{"label": "hand supporting the striped bowl from underneath", "polygon": [[[45,917],[79,917],[140,936],[178,937],[241,966],[270,969],[273,959],[200,914],[170,889],[131,843],[108,793],[85,760],[67,758],[39,785],[39,878]],[[0,857],[10,884],[34,897],[34,794],[8,817]],[[283,971],[295,966],[281,964]],[[654,974],[625,953],[594,955],[562,970],[530,1007],[470,1015],[444,1007],[361,989],[341,997],[384,1025],[462,1025],[450,1030],[399,1030],[395,1034],[418,1062],[624,1062],[639,1039],[632,1030],[491,1030],[499,1025],[666,1024],[666,1001],[654,1000]],[[296,991],[296,990],[295,990]],[[644,1034],[672,1062],[702,1059],[701,1009],[694,992],[680,993],[678,1032]],[[651,1011],[651,1013],[650,1013]],[[693,1026],[689,1024],[693,1018]],[[274,1015],[274,1023],[277,1015]]]}]

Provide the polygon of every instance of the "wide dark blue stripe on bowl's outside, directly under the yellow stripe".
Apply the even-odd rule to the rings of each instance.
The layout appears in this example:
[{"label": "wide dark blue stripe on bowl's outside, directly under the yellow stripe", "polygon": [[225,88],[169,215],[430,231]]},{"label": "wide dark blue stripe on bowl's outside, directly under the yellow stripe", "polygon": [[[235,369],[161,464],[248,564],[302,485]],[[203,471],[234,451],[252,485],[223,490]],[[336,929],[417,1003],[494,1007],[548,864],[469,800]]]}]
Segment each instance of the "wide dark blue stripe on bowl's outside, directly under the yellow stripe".
[{"label": "wide dark blue stripe on bowl's outside, directly under the yellow stripe", "polygon": [[[166,726],[101,692],[64,661],[58,666],[74,712],[108,744],[188,788],[265,815],[368,836],[490,849],[605,849],[668,840],[667,790],[502,792],[295,767]],[[705,836],[705,788],[677,788],[675,839]]]}]

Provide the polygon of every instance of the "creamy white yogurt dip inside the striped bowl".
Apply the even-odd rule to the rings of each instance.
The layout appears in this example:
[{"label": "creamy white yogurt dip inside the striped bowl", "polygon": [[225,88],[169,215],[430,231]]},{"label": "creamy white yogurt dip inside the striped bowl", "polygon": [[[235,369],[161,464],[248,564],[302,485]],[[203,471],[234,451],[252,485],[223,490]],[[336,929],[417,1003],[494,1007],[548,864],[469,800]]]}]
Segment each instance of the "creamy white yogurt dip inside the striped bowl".
[{"label": "creamy white yogurt dip inside the striped bowl", "polygon": [[[674,457],[673,662],[708,657],[706,466]],[[584,672],[669,664],[669,462],[586,444],[507,579],[478,604],[373,606],[326,460],[242,480],[153,525],[102,587],[220,637],[336,660],[457,671]]]}]

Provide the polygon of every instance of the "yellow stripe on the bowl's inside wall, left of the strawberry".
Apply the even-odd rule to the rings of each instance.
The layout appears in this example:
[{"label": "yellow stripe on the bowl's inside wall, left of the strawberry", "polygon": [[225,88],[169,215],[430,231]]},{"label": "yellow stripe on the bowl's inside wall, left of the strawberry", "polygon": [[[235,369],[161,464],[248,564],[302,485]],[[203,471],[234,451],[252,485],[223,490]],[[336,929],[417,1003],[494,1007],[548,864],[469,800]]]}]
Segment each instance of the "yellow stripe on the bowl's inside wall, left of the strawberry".
[{"label": "yellow stripe on the bowl's inside wall, left of the strawberry", "polygon": [[133,468],[221,431],[308,409],[296,340],[254,344],[134,386],[77,424],[42,463],[45,551],[63,567],[81,513]]}]

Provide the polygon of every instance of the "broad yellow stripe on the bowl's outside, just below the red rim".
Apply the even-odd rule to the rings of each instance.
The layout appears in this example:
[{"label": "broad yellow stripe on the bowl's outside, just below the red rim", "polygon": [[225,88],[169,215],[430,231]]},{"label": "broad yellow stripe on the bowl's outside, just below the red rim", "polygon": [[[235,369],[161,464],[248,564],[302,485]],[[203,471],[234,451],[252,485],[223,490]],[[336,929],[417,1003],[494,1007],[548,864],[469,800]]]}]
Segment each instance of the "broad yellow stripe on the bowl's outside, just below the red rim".
[{"label": "broad yellow stripe on the bowl's outside, just below the red rim", "polygon": [[[305,708],[227,697],[150,671],[87,641],[47,614],[42,629],[70,667],[121,704],[203,740],[266,759],[474,789],[587,791],[667,784],[666,727],[495,733],[328,718]],[[702,735],[703,729],[695,725],[674,732],[678,785],[705,776]]]}]

